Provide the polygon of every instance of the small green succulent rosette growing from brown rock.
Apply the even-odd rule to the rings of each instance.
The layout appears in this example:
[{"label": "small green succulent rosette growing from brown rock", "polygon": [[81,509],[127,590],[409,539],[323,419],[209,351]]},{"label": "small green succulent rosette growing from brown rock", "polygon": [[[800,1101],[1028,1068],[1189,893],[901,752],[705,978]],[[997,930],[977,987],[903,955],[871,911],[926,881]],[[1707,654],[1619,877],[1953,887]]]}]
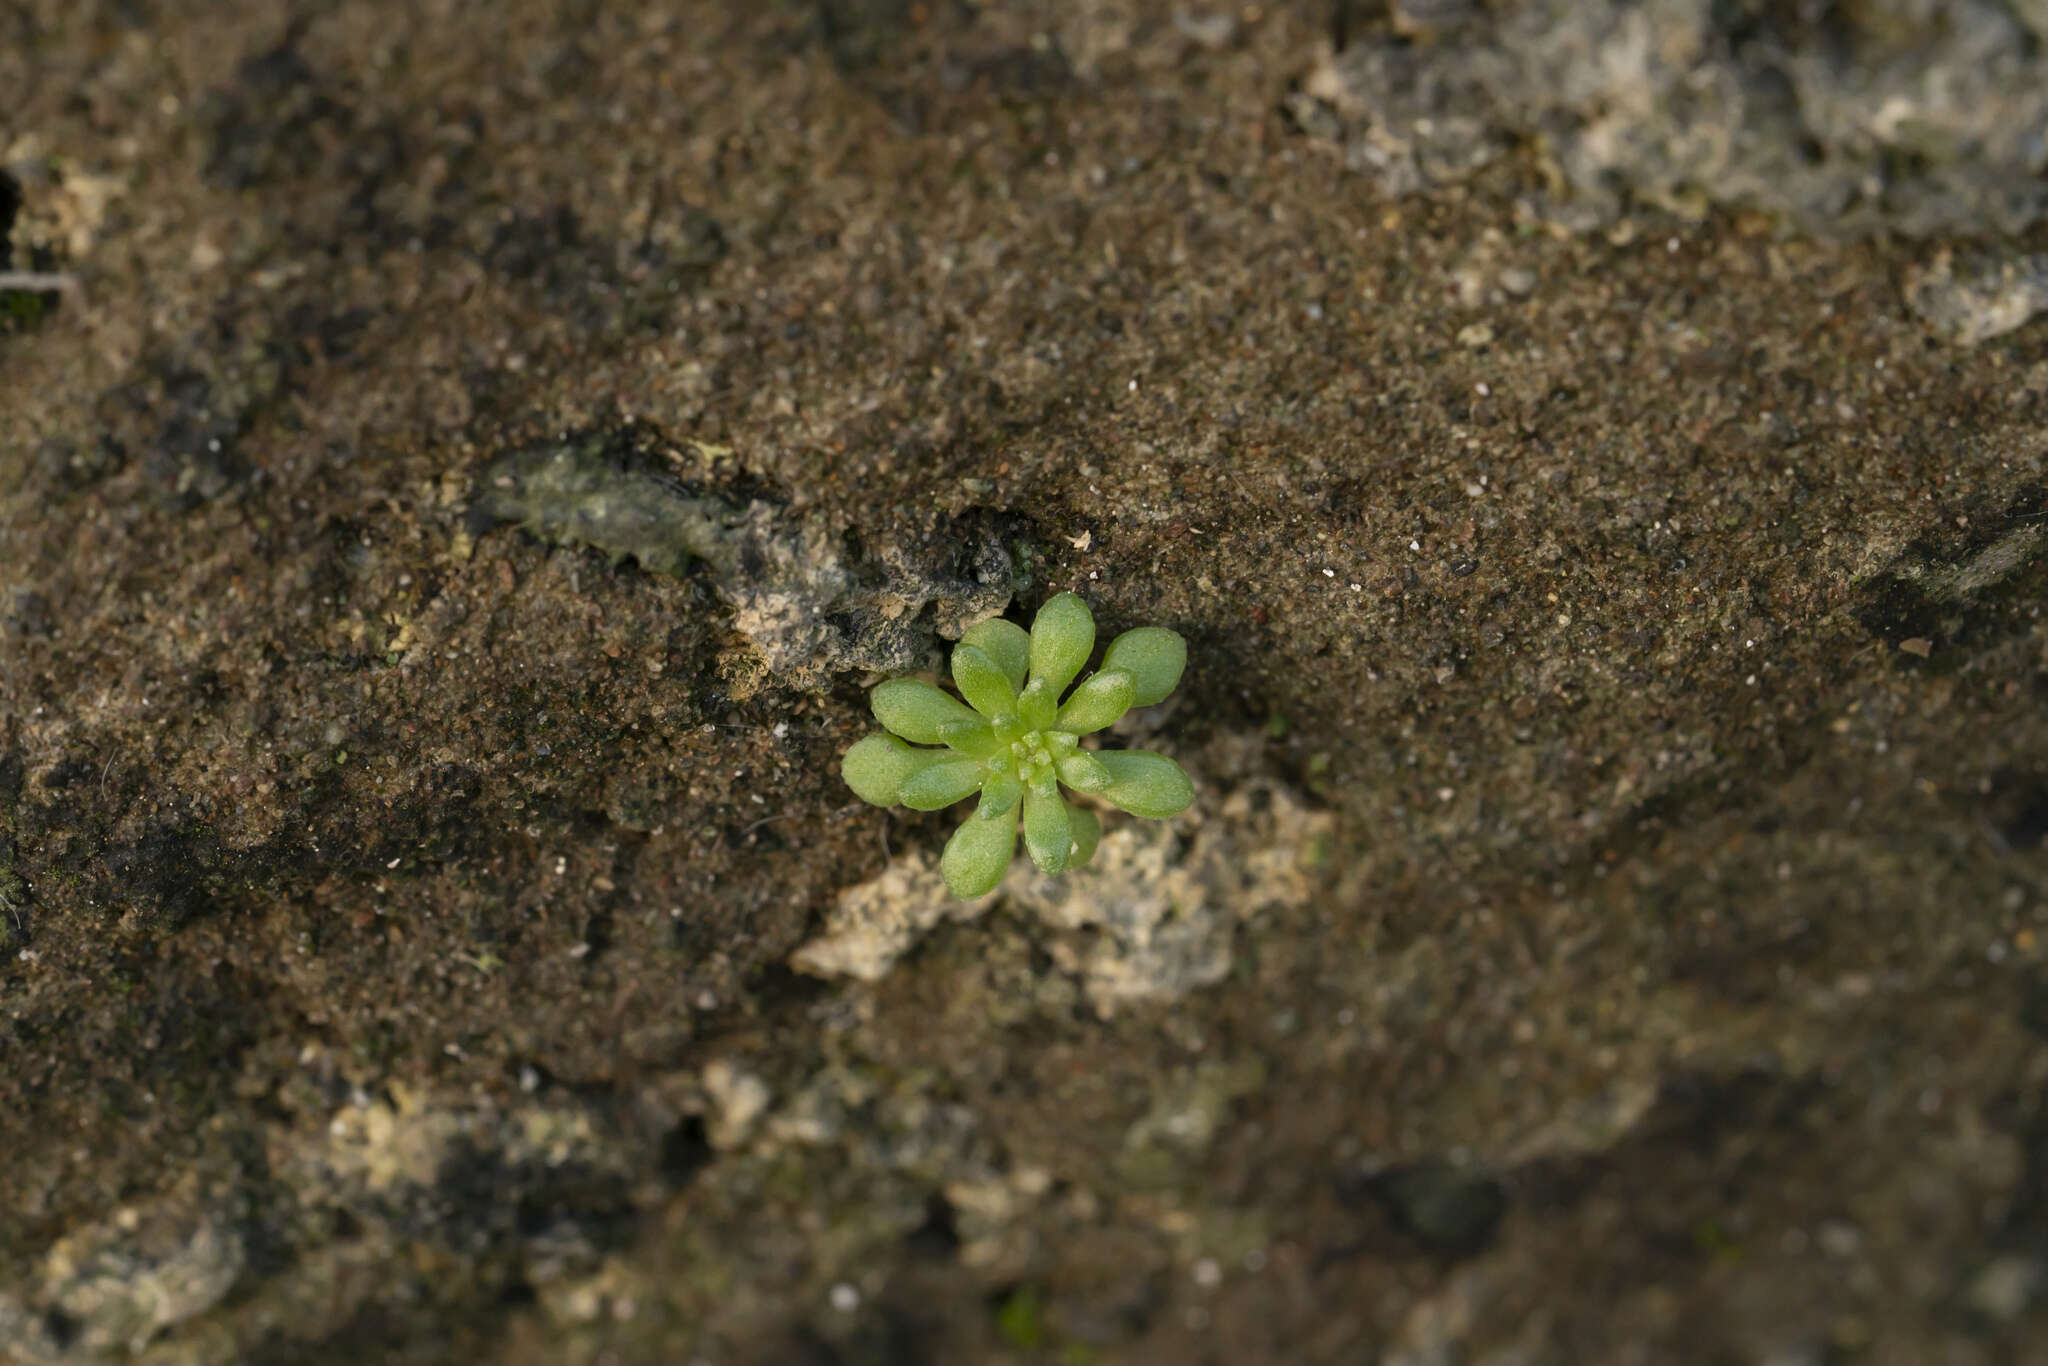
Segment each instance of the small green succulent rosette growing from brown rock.
[{"label": "small green succulent rosette growing from brown rock", "polygon": [[1153,819],[1194,801],[1188,774],[1163,754],[1081,748],[1081,735],[1163,700],[1188,664],[1188,643],[1165,627],[1124,631],[1069,692],[1094,649],[1096,618],[1069,592],[1038,608],[1028,633],[997,616],[961,635],[952,682],[965,702],[915,678],[874,688],[874,719],[893,733],[868,735],[840,764],[860,801],[938,811],[981,793],[938,860],[952,895],[979,897],[1004,881],[1020,823],[1042,872],[1079,868],[1096,854],[1102,825],[1061,784]]}]

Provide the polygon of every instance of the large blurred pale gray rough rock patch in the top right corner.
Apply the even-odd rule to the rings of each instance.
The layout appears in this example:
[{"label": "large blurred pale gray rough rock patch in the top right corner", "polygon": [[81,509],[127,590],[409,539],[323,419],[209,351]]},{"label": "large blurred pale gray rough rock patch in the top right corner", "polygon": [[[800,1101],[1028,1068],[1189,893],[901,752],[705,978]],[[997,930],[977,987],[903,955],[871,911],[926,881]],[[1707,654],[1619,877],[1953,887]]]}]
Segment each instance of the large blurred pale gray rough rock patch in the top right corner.
[{"label": "large blurred pale gray rough rock patch in the top right corner", "polygon": [[1356,35],[1292,113],[1393,195],[1534,141],[1565,193],[1534,207],[1573,227],[1634,199],[1837,233],[2015,233],[2048,215],[2042,12],[2038,0],[1475,6],[1430,41],[1391,20]]}]

